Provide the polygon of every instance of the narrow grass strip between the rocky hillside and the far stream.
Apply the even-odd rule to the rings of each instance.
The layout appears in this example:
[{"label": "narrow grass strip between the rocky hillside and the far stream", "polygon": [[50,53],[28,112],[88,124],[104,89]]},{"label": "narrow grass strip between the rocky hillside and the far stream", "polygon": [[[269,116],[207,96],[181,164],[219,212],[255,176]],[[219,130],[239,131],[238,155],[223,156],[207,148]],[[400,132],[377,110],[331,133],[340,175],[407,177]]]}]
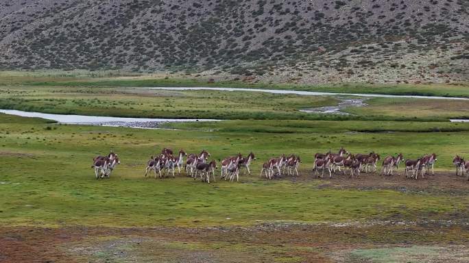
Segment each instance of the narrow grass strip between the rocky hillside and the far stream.
[{"label": "narrow grass strip between the rocky hillside and the far stream", "polygon": [[[91,75],[95,77],[90,77]],[[112,75],[112,77],[110,77]],[[120,75],[121,77],[114,77]],[[112,72],[67,72],[67,71],[6,71],[0,73],[0,85],[31,86],[206,86],[230,88],[269,88],[304,90],[317,92],[348,92],[387,95],[422,95],[442,97],[469,97],[468,83],[455,84],[328,84],[301,85],[276,84],[270,82],[243,82],[237,78],[208,82],[210,77],[194,75],[132,75]],[[235,80],[236,79],[236,80]]]}]

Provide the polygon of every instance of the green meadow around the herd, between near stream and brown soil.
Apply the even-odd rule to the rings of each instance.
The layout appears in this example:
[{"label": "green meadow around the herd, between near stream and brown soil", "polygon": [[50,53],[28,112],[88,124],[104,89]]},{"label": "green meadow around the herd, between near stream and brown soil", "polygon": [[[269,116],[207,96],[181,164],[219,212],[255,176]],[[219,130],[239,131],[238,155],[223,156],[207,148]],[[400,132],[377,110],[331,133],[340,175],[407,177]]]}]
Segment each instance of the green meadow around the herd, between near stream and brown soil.
[{"label": "green meadow around the herd, between near stream and brown soil", "polygon": [[[298,125],[315,127],[308,122]],[[309,171],[313,153],[342,145],[352,152],[402,152],[408,158],[435,151],[439,154],[437,168],[448,170],[454,153],[468,153],[465,138],[469,132],[350,134],[326,127],[298,134],[243,129],[169,131],[56,125],[0,114],[0,223],[199,227],[369,221],[396,215],[409,221],[422,216],[442,220],[455,212],[468,214],[467,195],[320,188],[322,180],[312,179]],[[254,174],[242,176],[241,183],[217,180],[203,184],[184,175],[145,178],[149,155],[168,146],[189,153],[208,149],[215,160],[254,151],[258,160],[252,167]],[[91,159],[110,149],[119,153],[122,164],[111,179],[97,181]],[[301,176],[311,180],[265,181],[258,177],[263,160],[280,153],[301,155]]]}]

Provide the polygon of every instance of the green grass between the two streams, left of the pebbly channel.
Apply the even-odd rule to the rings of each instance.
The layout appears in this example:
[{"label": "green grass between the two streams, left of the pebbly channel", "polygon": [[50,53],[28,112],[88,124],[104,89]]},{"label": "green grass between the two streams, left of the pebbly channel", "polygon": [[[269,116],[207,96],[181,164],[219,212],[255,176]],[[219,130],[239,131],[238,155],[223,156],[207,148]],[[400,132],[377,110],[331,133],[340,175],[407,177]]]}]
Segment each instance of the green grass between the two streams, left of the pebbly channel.
[{"label": "green grass between the two streams, left of the pebbly channel", "polygon": [[0,108],[98,116],[149,118],[320,118],[301,108],[337,99],[264,92],[169,91],[132,88],[0,87]]}]

